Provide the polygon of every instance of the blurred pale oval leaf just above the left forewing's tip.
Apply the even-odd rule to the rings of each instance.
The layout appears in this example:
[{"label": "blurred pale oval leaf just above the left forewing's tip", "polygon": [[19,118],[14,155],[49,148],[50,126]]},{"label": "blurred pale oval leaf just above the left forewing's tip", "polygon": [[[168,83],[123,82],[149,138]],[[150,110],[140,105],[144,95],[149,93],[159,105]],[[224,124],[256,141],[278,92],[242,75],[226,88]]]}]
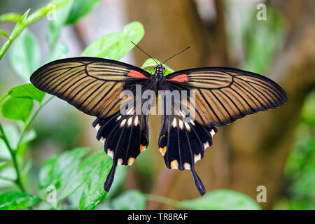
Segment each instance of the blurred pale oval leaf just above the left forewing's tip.
[{"label": "blurred pale oval leaf just above the left forewing's tip", "polygon": [[41,48],[31,31],[25,29],[13,43],[10,52],[10,65],[13,70],[29,82],[29,77],[41,64]]}]

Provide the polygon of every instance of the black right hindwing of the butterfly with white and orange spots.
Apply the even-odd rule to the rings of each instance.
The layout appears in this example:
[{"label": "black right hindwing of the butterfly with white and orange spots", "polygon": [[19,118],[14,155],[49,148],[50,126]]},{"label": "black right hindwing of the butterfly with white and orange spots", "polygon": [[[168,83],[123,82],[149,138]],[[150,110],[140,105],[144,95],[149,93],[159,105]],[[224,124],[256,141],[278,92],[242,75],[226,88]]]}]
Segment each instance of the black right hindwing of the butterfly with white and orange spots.
[{"label": "black right hindwing of the butterfly with white and orange spots", "polygon": [[[205,188],[195,171],[195,162],[204,156],[204,150],[212,145],[212,137],[217,132],[216,127],[204,127],[190,118],[186,111],[172,106],[170,114],[166,113],[167,97],[162,99],[162,124],[159,137],[159,150],[169,169],[189,169],[195,181],[197,190],[204,195]],[[183,99],[173,97],[172,102],[183,103]]]}]

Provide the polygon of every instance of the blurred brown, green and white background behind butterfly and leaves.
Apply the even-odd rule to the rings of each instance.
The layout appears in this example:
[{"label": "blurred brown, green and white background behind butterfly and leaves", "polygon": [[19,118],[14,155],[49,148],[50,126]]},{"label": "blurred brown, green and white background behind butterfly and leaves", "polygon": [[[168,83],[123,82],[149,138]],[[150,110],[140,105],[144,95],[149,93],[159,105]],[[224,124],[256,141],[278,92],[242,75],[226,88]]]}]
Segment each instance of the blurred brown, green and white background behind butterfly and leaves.
[{"label": "blurred brown, green and white background behind butterfly and leaves", "polygon": [[[23,14],[47,2],[1,0],[0,15]],[[191,46],[168,62],[175,71],[228,66],[272,78],[286,90],[288,102],[279,109],[220,127],[214,145],[197,162],[196,169],[207,190],[227,188],[255,199],[257,187],[265,186],[267,202],[260,203],[263,209],[315,209],[314,10],[312,0],[104,0],[90,14],[64,27],[58,42],[68,48],[66,57],[76,57],[99,36],[139,21],[145,29],[139,46],[156,59],[166,59]],[[13,26],[0,23],[0,29],[7,33]],[[43,64],[49,54],[47,27],[45,19],[29,27],[40,43]],[[5,41],[0,36],[0,45]],[[10,66],[10,50],[0,61],[1,96],[23,83]],[[141,66],[146,59],[134,49],[121,61]],[[27,151],[30,191],[39,167],[52,155],[77,146],[102,150],[92,128],[93,120],[57,98],[43,108],[32,126],[38,138]],[[159,130],[160,118],[151,116],[148,151],[141,153],[132,167],[122,168],[127,175],[120,192],[139,189],[174,200],[198,197],[190,172],[165,167],[157,147]],[[0,158],[9,156],[0,146]],[[0,190],[10,188],[14,187],[0,181]],[[148,202],[146,208],[174,209],[157,202]]]}]

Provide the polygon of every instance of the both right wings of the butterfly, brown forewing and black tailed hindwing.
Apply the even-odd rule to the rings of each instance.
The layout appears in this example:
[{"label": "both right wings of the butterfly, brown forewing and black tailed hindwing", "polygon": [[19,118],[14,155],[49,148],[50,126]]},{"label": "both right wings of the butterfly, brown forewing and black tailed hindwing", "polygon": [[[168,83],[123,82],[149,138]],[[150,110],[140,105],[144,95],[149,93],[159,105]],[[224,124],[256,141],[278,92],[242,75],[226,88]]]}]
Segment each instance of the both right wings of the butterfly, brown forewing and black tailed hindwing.
[{"label": "both right wings of the butterfly, brown forewing and black tailed hindwing", "polygon": [[[176,99],[195,110],[188,114],[173,109],[163,115],[159,147],[168,168],[190,169],[201,195],[205,189],[195,172],[195,162],[212,145],[216,127],[248,114],[274,109],[288,97],[274,81],[248,71],[228,68],[200,68],[177,71],[166,76],[168,90],[192,90],[194,97]],[[186,101],[186,102],[185,102]],[[185,104],[184,104],[185,103]],[[164,103],[165,104],[165,103]]]}]

